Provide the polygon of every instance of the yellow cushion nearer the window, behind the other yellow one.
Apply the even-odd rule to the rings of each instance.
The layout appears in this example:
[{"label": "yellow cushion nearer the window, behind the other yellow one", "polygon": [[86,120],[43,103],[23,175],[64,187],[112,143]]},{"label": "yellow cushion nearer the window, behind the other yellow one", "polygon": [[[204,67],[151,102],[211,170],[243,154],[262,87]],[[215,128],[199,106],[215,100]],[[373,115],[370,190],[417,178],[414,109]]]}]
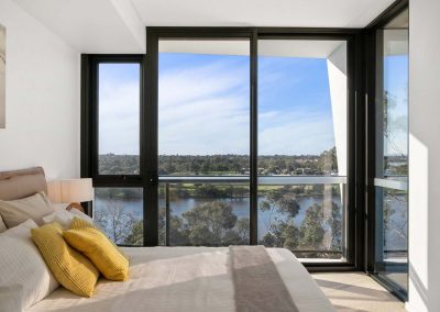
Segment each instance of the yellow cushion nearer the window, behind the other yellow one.
[{"label": "yellow cushion nearer the window, behind the other yellow one", "polygon": [[95,226],[76,227],[74,224],[63,233],[64,239],[75,249],[89,258],[98,270],[110,280],[127,280],[129,260]]}]

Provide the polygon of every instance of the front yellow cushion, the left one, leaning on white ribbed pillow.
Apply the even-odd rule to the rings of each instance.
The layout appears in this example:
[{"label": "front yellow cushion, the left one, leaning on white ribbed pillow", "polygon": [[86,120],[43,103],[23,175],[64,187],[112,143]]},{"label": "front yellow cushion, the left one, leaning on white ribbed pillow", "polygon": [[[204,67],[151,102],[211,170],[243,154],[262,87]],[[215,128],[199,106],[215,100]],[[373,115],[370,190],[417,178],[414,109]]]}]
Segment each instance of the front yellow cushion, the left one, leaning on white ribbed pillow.
[{"label": "front yellow cushion, the left one, leaning on white ribbed pillow", "polygon": [[90,260],[67,245],[59,223],[32,229],[31,235],[61,285],[79,296],[94,294],[99,271]]}]

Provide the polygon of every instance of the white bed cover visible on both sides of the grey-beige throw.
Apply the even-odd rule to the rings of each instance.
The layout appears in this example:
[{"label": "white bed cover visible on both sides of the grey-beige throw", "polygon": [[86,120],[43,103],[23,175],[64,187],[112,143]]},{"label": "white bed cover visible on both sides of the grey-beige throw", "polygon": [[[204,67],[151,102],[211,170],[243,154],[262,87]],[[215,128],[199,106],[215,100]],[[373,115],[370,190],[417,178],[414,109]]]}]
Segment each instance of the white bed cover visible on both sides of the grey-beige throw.
[{"label": "white bed cover visible on both sides of the grey-beige throw", "polygon": [[[130,280],[100,280],[94,298],[64,288],[26,311],[235,311],[229,248],[131,247]],[[267,248],[299,311],[334,311],[287,249]]]}]

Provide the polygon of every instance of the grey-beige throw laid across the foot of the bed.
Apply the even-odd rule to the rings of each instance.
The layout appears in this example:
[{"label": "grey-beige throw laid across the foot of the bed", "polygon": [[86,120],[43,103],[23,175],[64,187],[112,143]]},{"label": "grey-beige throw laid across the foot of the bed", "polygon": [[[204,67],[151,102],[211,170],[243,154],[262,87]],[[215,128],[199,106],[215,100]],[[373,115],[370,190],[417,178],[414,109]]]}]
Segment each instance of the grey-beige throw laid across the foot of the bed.
[{"label": "grey-beige throw laid across the foot of the bed", "polygon": [[264,246],[229,250],[238,312],[298,311]]}]

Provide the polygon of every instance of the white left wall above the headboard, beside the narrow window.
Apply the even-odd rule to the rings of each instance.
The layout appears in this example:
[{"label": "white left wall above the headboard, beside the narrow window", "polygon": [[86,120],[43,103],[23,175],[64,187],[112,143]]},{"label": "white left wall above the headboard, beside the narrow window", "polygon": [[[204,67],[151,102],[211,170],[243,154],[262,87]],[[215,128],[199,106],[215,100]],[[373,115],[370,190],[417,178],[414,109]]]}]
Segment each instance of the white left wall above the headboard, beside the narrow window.
[{"label": "white left wall above the headboard, beside the narrow window", "polygon": [[10,0],[7,27],[7,129],[0,170],[43,166],[48,179],[79,175],[79,53]]}]

